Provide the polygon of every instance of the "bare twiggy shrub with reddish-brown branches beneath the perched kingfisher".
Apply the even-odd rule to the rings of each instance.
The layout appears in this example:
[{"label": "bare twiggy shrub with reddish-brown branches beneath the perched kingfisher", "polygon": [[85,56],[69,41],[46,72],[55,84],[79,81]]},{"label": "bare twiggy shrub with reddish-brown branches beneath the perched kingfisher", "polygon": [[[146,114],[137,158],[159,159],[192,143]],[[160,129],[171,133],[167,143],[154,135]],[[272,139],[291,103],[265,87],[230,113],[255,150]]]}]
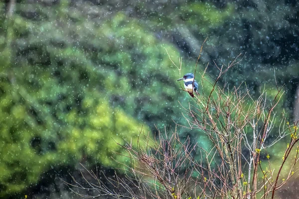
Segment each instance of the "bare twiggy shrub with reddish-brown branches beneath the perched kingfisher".
[{"label": "bare twiggy shrub with reddish-brown branches beneath the perched kingfisher", "polygon": [[[183,127],[204,133],[211,143],[208,150],[190,138],[180,140],[176,127],[171,132],[158,131],[157,139],[141,131],[140,136],[146,140],[143,143],[138,139],[135,144],[119,144],[126,150],[126,154],[119,155],[131,160],[119,162],[123,168],[118,170],[125,174],[124,177],[115,173],[113,179],[100,179],[89,171],[96,183],[86,175],[82,175],[86,180],[84,185],[76,179],[64,183],[76,194],[87,198],[273,199],[276,190],[298,171],[294,169],[299,160],[298,122],[291,124],[284,113],[279,116],[275,111],[283,96],[283,87],[277,86],[276,95],[269,100],[266,91],[254,98],[248,90],[217,86],[220,78],[239,63],[239,58],[240,55],[221,67],[215,64],[219,75],[213,82],[205,78],[206,68],[200,74],[201,86],[202,91],[210,88],[209,91],[202,92],[188,107],[183,107],[188,123]],[[276,171],[269,149],[283,138],[289,139],[289,144]],[[283,179],[282,170],[290,163],[289,174]],[[82,192],[84,190],[86,192]],[[87,192],[90,190],[93,192]]]}]

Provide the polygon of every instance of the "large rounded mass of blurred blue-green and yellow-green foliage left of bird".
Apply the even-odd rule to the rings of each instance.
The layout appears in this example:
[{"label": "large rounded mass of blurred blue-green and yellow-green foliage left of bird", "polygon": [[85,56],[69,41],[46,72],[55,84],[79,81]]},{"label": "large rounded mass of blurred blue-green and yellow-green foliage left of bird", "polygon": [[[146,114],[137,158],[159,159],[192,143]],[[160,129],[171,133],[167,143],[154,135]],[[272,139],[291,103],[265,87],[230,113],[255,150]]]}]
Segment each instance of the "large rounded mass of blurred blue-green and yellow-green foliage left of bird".
[{"label": "large rounded mass of blurred blue-green and yellow-green foliage left of bird", "polygon": [[[33,19],[25,14],[32,6]],[[64,6],[18,6],[23,14],[1,24],[2,197],[51,167],[115,167],[113,159],[126,161],[113,153],[122,153],[116,142],[136,143],[142,125],[184,121],[177,100],[188,96],[166,53],[177,59],[174,47],[122,12],[103,23]]]}]

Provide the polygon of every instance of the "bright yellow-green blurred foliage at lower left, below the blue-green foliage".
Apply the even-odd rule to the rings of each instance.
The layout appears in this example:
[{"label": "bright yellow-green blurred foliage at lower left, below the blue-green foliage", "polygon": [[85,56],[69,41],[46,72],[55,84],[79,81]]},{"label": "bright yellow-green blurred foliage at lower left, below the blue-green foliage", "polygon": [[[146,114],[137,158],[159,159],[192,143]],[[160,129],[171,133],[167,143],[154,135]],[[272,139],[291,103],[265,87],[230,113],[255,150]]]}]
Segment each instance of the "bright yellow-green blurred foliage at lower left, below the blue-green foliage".
[{"label": "bright yellow-green blurred foliage at lower left, below the blue-green foliage", "polygon": [[50,166],[74,165],[85,158],[90,163],[98,161],[104,166],[116,166],[111,157],[125,161],[112,153],[122,153],[116,142],[137,142],[138,127],[142,124],[122,109],[110,107],[100,94],[90,100],[88,96],[92,93],[86,92],[82,102],[85,112],[77,107],[66,111],[64,101],[55,107],[43,101],[45,92],[52,92],[54,99],[59,98],[48,90],[48,84],[28,93],[25,88],[29,87],[11,85],[8,79],[1,79],[1,196],[36,183]]}]

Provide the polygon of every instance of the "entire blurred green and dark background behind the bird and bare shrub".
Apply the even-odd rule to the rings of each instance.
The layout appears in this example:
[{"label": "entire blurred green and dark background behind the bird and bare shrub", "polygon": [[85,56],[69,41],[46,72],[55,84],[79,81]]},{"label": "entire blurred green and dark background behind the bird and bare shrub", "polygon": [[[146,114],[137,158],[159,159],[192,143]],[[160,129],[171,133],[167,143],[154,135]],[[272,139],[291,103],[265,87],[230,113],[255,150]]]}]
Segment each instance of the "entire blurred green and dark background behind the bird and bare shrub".
[{"label": "entire blurred green and dark background behind the bird and bare shrub", "polygon": [[[78,163],[109,175],[112,158],[126,161],[115,141],[185,124],[178,101],[191,100],[175,80],[194,71],[206,37],[199,72],[246,53],[221,84],[272,95],[275,69],[279,110],[297,120],[298,25],[297,0],[2,0],[0,198],[76,197],[58,176],[76,176]],[[181,74],[166,50],[183,57]]]}]

